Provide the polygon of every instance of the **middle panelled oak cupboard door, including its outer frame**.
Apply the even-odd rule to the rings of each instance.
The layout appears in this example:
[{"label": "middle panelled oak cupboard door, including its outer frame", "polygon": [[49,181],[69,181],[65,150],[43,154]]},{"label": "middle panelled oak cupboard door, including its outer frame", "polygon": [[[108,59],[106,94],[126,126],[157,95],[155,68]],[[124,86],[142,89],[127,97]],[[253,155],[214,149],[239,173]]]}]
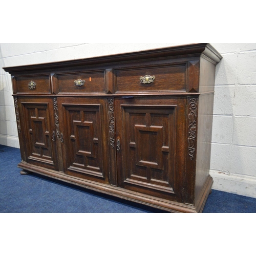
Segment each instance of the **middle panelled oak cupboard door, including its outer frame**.
[{"label": "middle panelled oak cupboard door, including its outer frame", "polygon": [[106,99],[58,98],[64,172],[109,183]]}]

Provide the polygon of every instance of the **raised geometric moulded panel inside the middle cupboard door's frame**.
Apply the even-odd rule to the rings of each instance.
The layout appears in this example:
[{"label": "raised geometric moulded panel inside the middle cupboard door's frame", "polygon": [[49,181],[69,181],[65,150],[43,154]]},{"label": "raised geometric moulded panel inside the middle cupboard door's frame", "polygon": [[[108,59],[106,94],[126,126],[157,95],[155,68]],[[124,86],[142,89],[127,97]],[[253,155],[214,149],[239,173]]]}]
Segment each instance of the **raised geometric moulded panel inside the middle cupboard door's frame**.
[{"label": "raised geometric moulded panel inside the middle cupboard door's frame", "polygon": [[68,170],[102,178],[100,105],[62,106],[68,122]]}]

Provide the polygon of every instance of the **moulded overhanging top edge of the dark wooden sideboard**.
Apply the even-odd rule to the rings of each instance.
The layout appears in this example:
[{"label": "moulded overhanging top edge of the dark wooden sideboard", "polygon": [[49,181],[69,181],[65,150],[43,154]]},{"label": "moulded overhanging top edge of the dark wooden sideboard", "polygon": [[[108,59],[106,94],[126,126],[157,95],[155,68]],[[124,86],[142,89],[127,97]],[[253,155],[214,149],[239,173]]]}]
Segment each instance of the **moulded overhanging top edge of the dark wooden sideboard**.
[{"label": "moulded overhanging top edge of the dark wooden sideboard", "polygon": [[204,54],[216,63],[218,63],[222,56],[220,53],[208,43],[180,45],[173,47],[157,48],[150,50],[142,50],[136,52],[119,53],[113,55],[103,55],[82,59],[64,60],[56,62],[37,63],[32,65],[22,65],[13,67],[4,67],[6,72],[20,72],[20,71],[36,71],[36,70],[51,70],[56,68],[80,67],[84,65],[97,65],[100,63],[115,63],[120,61],[142,60],[150,58],[186,56],[186,55],[200,55]]}]

